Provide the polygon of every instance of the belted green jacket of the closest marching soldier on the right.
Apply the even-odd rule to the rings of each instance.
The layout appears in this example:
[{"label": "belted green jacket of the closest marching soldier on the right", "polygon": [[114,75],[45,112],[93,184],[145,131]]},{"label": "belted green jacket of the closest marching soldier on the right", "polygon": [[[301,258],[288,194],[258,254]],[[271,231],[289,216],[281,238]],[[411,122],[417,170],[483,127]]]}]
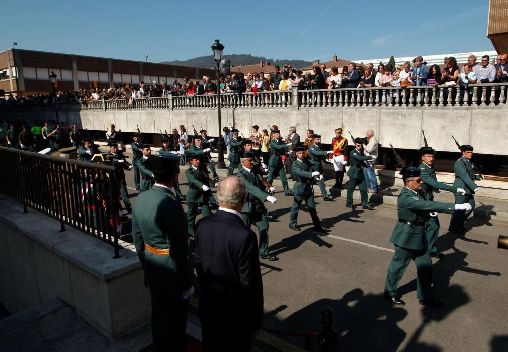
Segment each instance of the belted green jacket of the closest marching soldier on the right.
[{"label": "belted green jacket of the closest marching soldier on the right", "polygon": [[[403,187],[397,200],[397,214],[399,219],[426,222],[429,212],[452,214],[455,209],[453,203],[440,203],[425,200],[420,194]],[[425,226],[403,224],[397,221],[393,229],[390,243],[402,248],[424,250],[427,246]]]}]

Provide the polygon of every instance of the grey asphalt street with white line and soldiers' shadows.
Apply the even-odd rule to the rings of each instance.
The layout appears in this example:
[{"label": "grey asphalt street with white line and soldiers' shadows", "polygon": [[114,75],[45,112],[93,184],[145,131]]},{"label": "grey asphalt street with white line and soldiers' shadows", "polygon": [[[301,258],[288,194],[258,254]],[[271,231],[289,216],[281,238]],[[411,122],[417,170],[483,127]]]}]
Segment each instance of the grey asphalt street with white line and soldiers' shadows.
[{"label": "grey asphalt street with white line and soldiers' shadows", "polygon": [[[182,192],[186,179],[180,174]],[[132,172],[128,185],[135,202]],[[275,186],[280,186],[275,182]],[[302,231],[288,229],[292,197],[278,187],[270,222],[270,250],[280,260],[262,261],[265,327],[288,331],[320,331],[320,311],[335,311],[340,350],[461,350],[508,349],[508,251],[497,249],[497,236],[507,223],[468,221],[465,237],[448,233],[450,216],[439,215],[438,249],[446,256],[434,261],[435,297],[444,308],[420,306],[416,299],[416,268],[411,263],[399,285],[407,303],[396,307],[383,299],[388,264],[393,254],[389,238],[396,208],[351,210],[342,198],[317,200],[328,236],[312,232],[305,207],[298,217]],[[184,204],[186,209],[186,205]],[[124,230],[129,232],[129,227]],[[254,229],[256,232],[256,229]],[[127,234],[122,239],[129,240]],[[304,339],[276,335],[303,348]],[[314,338],[314,346],[316,341]]]}]

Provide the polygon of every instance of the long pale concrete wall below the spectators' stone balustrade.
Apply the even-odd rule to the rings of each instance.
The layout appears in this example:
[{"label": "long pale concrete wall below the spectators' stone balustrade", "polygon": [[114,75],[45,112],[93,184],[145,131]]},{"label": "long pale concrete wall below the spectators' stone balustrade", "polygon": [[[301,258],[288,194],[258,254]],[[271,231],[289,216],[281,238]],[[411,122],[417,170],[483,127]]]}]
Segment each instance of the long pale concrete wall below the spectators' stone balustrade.
[{"label": "long pale concrete wall below the spectators' stone balustrade", "polygon": [[[54,119],[54,112],[9,112],[13,118]],[[233,124],[245,136],[252,125],[260,129],[278,125],[282,136],[288,127],[295,126],[304,137],[307,129],[321,134],[324,143],[330,143],[334,130],[342,127],[345,137],[365,136],[373,129],[379,142],[395,148],[419,149],[424,145],[421,130],[425,130],[428,143],[439,151],[456,152],[451,138],[461,144],[471,144],[475,152],[508,155],[508,106],[497,107],[356,107],[356,108],[237,108],[222,109],[222,126]],[[135,132],[139,125],[143,133],[178,128],[183,124],[192,134],[192,125],[208,130],[216,136],[219,131],[217,109],[175,110],[108,110],[60,111],[60,121],[77,123],[80,128],[106,130],[111,123],[122,132]]]}]

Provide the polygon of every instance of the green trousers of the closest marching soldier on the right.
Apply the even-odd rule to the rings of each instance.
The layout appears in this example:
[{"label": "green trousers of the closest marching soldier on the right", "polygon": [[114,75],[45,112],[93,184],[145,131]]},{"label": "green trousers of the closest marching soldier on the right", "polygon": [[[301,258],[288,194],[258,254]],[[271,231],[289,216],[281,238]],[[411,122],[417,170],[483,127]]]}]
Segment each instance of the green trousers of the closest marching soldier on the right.
[{"label": "green trousers of the closest marching soldier on the right", "polygon": [[430,253],[424,250],[411,250],[395,245],[395,253],[388,266],[385,292],[390,296],[398,296],[397,286],[404,275],[411,259],[416,265],[416,295],[419,300],[432,299],[430,287],[432,285],[432,259]]}]

